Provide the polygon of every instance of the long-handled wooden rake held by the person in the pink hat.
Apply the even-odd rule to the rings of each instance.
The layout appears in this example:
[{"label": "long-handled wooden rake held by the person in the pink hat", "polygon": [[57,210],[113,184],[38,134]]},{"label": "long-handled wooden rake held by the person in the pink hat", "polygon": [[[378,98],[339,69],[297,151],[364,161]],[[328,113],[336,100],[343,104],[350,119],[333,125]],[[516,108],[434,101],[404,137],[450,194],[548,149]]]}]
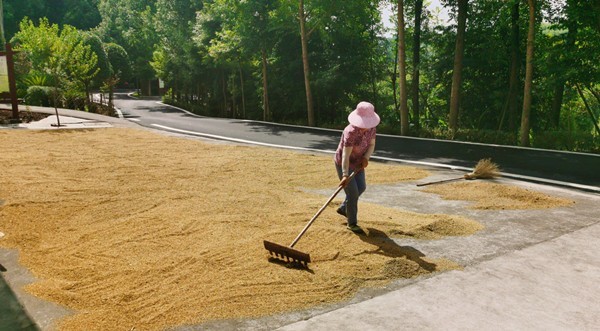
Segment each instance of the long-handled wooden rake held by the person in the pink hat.
[{"label": "long-handled wooden rake held by the person in the pink hat", "polygon": [[[350,174],[350,176],[348,176],[348,181],[352,180],[352,178],[354,178],[354,175],[356,175],[358,172],[360,172],[360,170],[361,169],[354,170]],[[294,245],[296,245],[296,243],[298,242],[298,240],[300,240],[300,238],[302,238],[302,236],[304,235],[306,230],[308,230],[308,228],[313,224],[313,222],[317,219],[317,217],[319,217],[319,215],[321,215],[323,210],[325,210],[325,208],[329,205],[329,203],[331,203],[331,201],[335,198],[335,196],[338,193],[340,193],[340,191],[343,188],[344,187],[342,185],[338,186],[338,188],[335,190],[335,192],[333,192],[333,194],[329,197],[327,202],[325,202],[323,207],[321,207],[321,209],[319,209],[319,211],[315,214],[315,216],[313,216],[310,219],[310,221],[308,221],[306,226],[304,226],[304,229],[302,229],[302,231],[300,231],[300,234],[298,234],[296,239],[294,239],[294,241],[292,241],[292,243],[289,246],[279,245],[274,242],[264,240],[263,242],[265,245],[265,249],[269,251],[271,256],[276,259],[279,259],[281,261],[293,264],[293,265],[297,265],[297,266],[301,266],[301,267],[308,267],[308,263],[310,263],[310,254],[301,252],[297,249],[294,249]]]}]

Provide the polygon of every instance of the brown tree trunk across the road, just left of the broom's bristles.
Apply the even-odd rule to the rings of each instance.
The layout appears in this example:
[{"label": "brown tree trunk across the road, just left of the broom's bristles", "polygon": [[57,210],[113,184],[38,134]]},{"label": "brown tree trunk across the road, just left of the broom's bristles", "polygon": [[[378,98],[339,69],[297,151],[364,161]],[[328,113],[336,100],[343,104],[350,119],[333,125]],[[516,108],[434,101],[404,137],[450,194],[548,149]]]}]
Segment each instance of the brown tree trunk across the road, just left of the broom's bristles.
[{"label": "brown tree trunk across the road, just left of the broom's bristles", "polygon": [[465,50],[465,29],[467,23],[468,0],[458,1],[458,26],[456,29],[456,45],[454,47],[454,69],[452,70],[452,91],[450,93],[450,130],[452,136],[458,129],[458,100],[462,80],[462,66]]}]

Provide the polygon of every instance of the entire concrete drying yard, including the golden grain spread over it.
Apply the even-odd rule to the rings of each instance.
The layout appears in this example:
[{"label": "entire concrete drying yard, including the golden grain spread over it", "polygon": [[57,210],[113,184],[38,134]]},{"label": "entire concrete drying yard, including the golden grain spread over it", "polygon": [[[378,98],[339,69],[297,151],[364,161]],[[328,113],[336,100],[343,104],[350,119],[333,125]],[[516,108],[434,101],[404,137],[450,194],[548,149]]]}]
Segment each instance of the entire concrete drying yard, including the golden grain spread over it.
[{"label": "entire concrete drying yard, including the golden grain spread over it", "polygon": [[43,330],[600,324],[597,194],[502,178],[419,188],[462,174],[372,162],[367,234],[334,203],[296,246],[310,269],[290,269],[262,240],[289,244],[324,203],[330,155],[49,121],[0,129],[2,276]]}]

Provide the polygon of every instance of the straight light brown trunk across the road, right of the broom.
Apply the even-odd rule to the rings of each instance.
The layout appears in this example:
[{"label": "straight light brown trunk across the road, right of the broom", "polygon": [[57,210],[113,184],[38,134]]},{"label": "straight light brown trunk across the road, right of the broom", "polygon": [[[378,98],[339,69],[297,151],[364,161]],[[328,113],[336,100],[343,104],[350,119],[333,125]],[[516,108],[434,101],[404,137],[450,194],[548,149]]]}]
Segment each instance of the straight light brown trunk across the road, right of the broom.
[{"label": "straight light brown trunk across the road, right of the broom", "polygon": [[531,88],[533,85],[533,42],[535,38],[535,0],[529,4],[529,30],[527,33],[527,57],[525,66],[525,88],[523,92],[523,114],[521,115],[521,146],[529,146],[529,117],[531,115]]}]

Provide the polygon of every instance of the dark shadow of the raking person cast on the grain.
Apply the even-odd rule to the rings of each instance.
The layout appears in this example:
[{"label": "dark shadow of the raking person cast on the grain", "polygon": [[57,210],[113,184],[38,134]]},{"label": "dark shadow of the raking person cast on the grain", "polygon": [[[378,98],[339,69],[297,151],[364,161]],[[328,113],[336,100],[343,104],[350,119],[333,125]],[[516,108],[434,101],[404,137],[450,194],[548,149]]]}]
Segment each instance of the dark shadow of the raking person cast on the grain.
[{"label": "dark shadow of the raking person cast on the grain", "polygon": [[367,254],[380,254],[392,258],[405,257],[408,260],[417,263],[421,268],[429,272],[436,270],[437,265],[423,260],[422,257],[424,257],[425,254],[421,253],[414,247],[400,246],[396,244],[396,242],[388,237],[388,235],[383,231],[373,228],[367,228],[367,230],[368,231],[366,234],[358,237],[366,243],[377,246],[376,249],[366,252]]}]

